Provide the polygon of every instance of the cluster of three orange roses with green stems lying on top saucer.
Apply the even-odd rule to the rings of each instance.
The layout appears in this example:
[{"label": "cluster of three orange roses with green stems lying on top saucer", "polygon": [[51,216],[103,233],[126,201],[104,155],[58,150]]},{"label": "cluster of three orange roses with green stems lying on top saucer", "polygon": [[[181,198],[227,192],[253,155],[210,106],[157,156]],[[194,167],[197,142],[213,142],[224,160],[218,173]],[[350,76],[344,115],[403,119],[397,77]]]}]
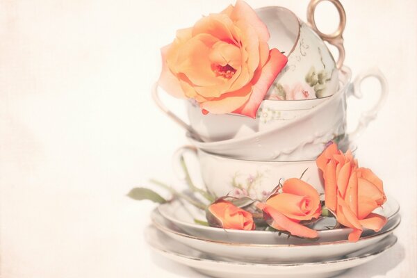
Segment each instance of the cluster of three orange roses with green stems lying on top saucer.
[{"label": "cluster of three orange roses with green stems lying on top saucer", "polygon": [[[370,169],[359,167],[352,153],[347,151],[343,154],[334,142],[318,156],[316,164],[325,181],[324,196],[302,181],[302,177],[286,179],[283,183],[279,181],[265,199],[245,196],[215,198],[206,190],[195,187],[188,179],[191,192],[201,195],[208,202],[200,202],[193,195],[180,193],[158,181],[154,183],[205,211],[207,222],[199,224],[221,229],[266,229],[288,236],[318,238],[318,232],[309,225],[330,217],[336,218],[338,225],[352,228],[348,240],[356,242],[364,228],[379,231],[384,227],[386,218],[373,213],[375,208],[386,202],[381,179]],[[147,188],[133,188],[129,197],[167,202]]]}]

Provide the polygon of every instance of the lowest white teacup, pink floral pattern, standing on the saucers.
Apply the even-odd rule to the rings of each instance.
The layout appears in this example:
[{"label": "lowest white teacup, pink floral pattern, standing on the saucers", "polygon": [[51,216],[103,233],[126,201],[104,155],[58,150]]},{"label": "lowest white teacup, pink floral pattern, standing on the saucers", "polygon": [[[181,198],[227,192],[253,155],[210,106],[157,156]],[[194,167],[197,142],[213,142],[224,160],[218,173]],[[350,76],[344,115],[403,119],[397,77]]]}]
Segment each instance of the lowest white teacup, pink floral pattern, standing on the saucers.
[{"label": "lowest white teacup, pink floral pattern, standing on the saucers", "polygon": [[[283,183],[290,178],[302,178],[319,193],[324,193],[322,177],[315,160],[249,161],[208,154],[194,147],[182,147],[174,154],[174,163],[179,163],[188,152],[197,157],[204,185],[216,197],[249,196],[262,200],[268,197],[279,182]],[[190,172],[198,172],[195,165],[186,165]]]}]

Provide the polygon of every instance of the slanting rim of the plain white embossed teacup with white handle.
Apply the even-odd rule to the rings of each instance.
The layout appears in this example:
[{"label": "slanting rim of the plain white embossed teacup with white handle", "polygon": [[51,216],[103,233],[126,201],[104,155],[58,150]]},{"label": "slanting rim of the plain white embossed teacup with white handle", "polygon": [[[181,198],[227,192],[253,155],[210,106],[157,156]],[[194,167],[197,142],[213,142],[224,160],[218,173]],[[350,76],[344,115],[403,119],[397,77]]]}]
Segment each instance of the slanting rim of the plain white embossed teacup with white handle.
[{"label": "slanting rim of the plain white embossed teacup with white handle", "polygon": [[[344,73],[345,76],[347,76],[345,83],[343,84],[343,86],[341,88],[339,88],[339,90],[337,92],[335,92],[333,95],[329,96],[329,98],[336,98],[338,97],[338,95],[341,95],[349,86],[350,86],[350,81],[352,79],[352,71],[350,70],[349,67],[347,66],[343,66],[341,68],[341,70],[338,70],[341,73]],[[340,77],[339,77],[339,81],[341,81]],[[186,137],[188,138],[188,140],[190,140],[192,142],[193,145],[196,146],[204,146],[204,147],[221,147],[224,145],[229,145],[229,144],[236,144],[236,143],[240,143],[240,142],[246,142],[247,140],[253,140],[256,138],[259,138],[260,136],[266,136],[270,133],[275,133],[277,131],[277,129],[283,129],[284,127],[288,126],[289,124],[293,124],[294,122],[301,122],[303,120],[305,120],[308,117],[311,117],[311,115],[313,113],[317,113],[318,107],[322,106],[323,104],[325,104],[328,101],[323,102],[322,104],[318,104],[318,106],[315,106],[313,108],[311,108],[311,111],[309,111],[309,113],[306,113],[304,115],[301,115],[300,117],[297,117],[296,119],[292,120],[292,121],[288,121],[288,123],[286,123],[283,126],[277,126],[274,129],[268,129],[265,131],[258,131],[256,133],[252,133],[250,135],[247,136],[242,136],[239,138],[230,138],[227,140],[219,140],[219,141],[213,141],[213,142],[204,142],[204,141],[199,141],[197,140],[192,133],[187,132],[186,133]],[[198,134],[197,134],[198,136]],[[204,149],[204,147],[199,147]]]}]

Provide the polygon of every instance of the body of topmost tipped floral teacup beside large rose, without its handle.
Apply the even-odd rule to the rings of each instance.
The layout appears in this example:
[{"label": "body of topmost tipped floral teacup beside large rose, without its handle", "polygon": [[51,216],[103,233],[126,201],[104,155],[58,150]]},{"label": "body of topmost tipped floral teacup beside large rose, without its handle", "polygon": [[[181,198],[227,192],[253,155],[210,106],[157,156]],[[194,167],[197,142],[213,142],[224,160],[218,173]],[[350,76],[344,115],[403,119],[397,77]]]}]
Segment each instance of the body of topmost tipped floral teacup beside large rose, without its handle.
[{"label": "body of topmost tipped floral teacup beside large rose, without its handle", "polygon": [[270,47],[288,57],[265,99],[315,99],[338,89],[338,71],[329,49],[291,10],[270,6],[256,10],[270,31]]}]

